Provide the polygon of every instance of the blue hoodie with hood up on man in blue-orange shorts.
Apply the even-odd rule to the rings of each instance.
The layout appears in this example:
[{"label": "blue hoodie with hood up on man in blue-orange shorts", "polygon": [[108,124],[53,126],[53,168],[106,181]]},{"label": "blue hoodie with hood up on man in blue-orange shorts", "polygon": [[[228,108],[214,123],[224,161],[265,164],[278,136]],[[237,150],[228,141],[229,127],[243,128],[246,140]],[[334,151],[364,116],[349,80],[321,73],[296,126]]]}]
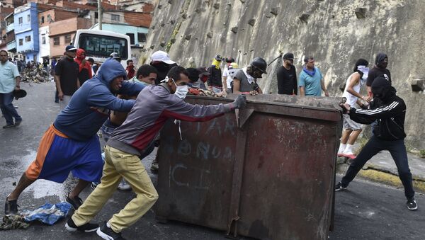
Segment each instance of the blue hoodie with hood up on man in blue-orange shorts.
[{"label": "blue hoodie with hood up on man in blue-orange shorts", "polygon": [[[110,110],[128,112],[135,100],[117,98],[111,93],[110,84],[117,76],[126,76],[125,69],[115,59],[107,59],[96,76],[84,84],[72,95],[69,104],[53,125],[69,138],[87,141],[108,119]],[[117,94],[137,95],[144,86],[124,81]]]}]

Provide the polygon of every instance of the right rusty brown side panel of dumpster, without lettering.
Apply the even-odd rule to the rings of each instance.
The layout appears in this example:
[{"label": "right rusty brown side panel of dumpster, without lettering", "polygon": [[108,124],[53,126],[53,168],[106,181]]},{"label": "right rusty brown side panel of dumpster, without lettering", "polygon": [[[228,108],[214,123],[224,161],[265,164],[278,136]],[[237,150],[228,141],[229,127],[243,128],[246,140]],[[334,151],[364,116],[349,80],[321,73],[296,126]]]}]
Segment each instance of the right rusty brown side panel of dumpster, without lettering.
[{"label": "right rusty brown side panel of dumpster, without lettering", "polygon": [[254,113],[246,127],[238,233],[326,239],[337,122]]}]

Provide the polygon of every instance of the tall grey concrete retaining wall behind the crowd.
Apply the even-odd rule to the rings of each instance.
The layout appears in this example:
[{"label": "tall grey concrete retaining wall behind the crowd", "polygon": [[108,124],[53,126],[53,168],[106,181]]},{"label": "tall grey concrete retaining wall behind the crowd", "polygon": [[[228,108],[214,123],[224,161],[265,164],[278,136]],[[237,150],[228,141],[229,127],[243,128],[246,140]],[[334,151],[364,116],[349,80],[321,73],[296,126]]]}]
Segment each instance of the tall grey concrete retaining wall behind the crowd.
[{"label": "tall grey concrete retaining wall behind the crowd", "polygon": [[[365,8],[365,18],[356,17],[356,8]],[[253,57],[271,62],[290,51],[300,72],[303,57],[312,55],[331,96],[341,96],[338,86],[356,59],[373,64],[376,53],[385,52],[393,85],[407,103],[407,142],[425,149],[425,93],[410,86],[412,79],[425,76],[424,9],[422,0],[159,0],[145,57],[166,50],[183,67],[200,67],[221,54],[237,58],[240,66]],[[307,23],[302,14],[310,15]],[[267,93],[277,92],[280,64],[280,59],[273,62],[259,82]]]}]

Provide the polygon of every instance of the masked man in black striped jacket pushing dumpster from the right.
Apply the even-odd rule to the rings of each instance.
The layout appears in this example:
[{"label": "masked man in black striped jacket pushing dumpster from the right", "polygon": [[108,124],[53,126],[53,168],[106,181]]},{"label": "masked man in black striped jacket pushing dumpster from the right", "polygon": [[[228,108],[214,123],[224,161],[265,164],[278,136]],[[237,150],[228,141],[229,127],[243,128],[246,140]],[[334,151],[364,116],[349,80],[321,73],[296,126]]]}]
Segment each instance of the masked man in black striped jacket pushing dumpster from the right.
[{"label": "masked man in black striped jacket pushing dumpster from the right", "polygon": [[369,159],[382,150],[388,150],[395,161],[399,178],[404,186],[407,208],[416,210],[418,205],[414,200],[412,173],[410,173],[406,146],[404,145],[406,104],[402,98],[395,95],[395,88],[383,76],[378,76],[373,81],[372,93],[374,98],[379,98],[382,102],[379,108],[361,110],[350,108],[348,104],[341,104],[344,112],[350,115],[351,120],[362,124],[370,124],[378,120],[378,124],[373,127],[373,136],[361,149],[356,159],[353,160],[341,182],[336,184],[335,190],[346,189]]}]

